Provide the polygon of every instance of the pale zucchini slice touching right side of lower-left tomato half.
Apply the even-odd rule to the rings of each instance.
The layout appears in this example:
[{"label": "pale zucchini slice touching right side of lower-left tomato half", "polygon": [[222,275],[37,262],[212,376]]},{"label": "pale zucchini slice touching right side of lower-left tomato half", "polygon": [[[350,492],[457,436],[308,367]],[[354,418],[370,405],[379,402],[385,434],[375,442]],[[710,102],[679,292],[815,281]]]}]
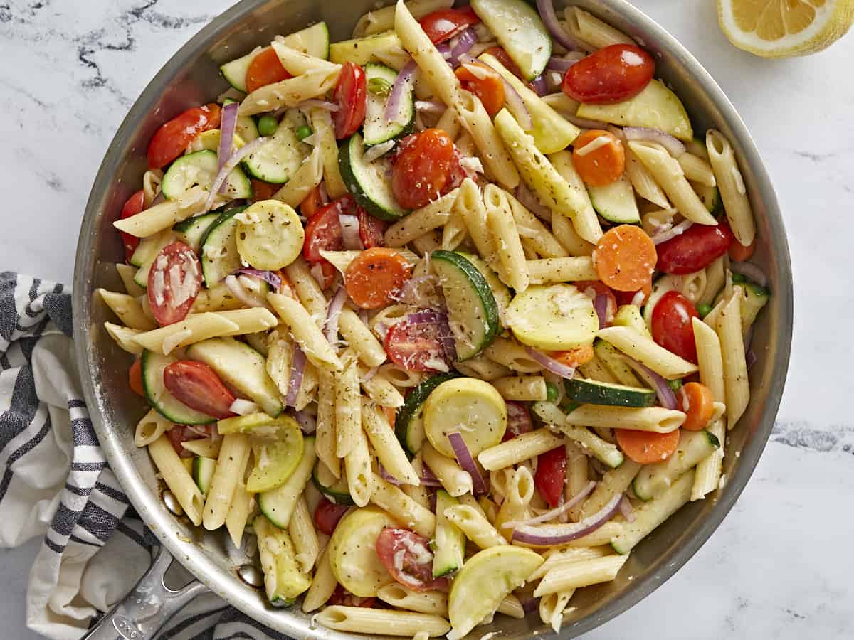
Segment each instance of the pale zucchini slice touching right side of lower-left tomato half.
[{"label": "pale zucchini slice touching right side of lower-left tomato half", "polygon": [[267,416],[284,410],[278,388],[266,373],[266,360],[233,338],[209,338],[187,347],[187,358],[207,364],[222,381],[259,404]]}]

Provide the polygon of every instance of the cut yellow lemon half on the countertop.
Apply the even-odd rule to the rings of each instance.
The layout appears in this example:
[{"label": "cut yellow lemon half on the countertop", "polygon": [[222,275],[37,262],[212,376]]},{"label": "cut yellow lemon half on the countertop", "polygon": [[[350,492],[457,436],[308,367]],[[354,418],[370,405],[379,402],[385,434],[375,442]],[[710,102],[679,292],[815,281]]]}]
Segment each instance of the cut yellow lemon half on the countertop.
[{"label": "cut yellow lemon half on the countertop", "polygon": [[717,0],[729,41],[765,58],[826,49],[854,22],[854,0]]}]

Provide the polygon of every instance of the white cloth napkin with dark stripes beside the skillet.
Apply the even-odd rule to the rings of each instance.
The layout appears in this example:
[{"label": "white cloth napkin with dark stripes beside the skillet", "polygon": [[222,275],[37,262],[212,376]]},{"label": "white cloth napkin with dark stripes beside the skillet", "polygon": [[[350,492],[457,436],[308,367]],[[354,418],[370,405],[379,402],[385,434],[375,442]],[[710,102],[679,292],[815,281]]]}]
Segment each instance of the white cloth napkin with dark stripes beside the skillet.
[{"label": "white cloth napkin with dark stripes beside the skillet", "polygon": [[[98,445],[71,336],[67,288],[0,273],[0,547],[44,537],[26,588],[26,625],[56,640],[76,640],[113,608],[157,544]],[[287,640],[212,593],[158,640],[190,638]]]}]

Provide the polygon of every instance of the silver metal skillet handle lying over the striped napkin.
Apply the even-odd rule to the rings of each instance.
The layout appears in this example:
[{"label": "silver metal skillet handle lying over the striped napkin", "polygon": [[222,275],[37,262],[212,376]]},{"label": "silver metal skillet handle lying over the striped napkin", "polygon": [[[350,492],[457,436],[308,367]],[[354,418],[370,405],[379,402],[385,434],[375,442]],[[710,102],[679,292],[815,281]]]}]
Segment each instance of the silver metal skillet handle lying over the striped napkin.
[{"label": "silver metal skillet handle lying over the striped napkin", "polygon": [[148,572],[122,602],[104,615],[81,640],[151,640],[167,620],[208,587],[193,580],[178,591],[163,582],[173,556],[161,546]]}]

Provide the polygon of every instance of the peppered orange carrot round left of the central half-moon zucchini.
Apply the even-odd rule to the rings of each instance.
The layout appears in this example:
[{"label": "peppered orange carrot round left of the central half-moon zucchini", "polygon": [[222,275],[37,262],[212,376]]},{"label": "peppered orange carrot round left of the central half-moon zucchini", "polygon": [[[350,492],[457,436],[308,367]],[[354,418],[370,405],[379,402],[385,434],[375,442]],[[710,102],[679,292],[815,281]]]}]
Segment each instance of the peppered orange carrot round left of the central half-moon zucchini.
[{"label": "peppered orange carrot round left of the central half-moon zucchini", "polygon": [[344,280],[350,299],[362,309],[388,305],[411,275],[400,253],[373,247],[360,253],[347,268]]}]

